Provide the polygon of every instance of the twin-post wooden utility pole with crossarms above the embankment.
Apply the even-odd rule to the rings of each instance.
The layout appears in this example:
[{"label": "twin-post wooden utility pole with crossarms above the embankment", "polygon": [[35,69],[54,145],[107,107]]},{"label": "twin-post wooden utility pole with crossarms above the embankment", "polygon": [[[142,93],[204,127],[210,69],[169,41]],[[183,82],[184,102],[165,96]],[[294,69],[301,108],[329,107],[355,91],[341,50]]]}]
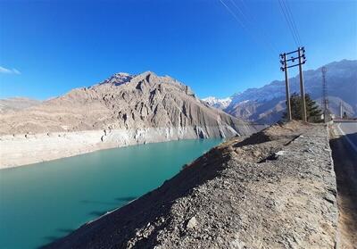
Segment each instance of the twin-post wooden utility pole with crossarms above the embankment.
[{"label": "twin-post wooden utility pole with crossarms above the embankment", "polygon": [[[297,53],[297,56],[296,56]],[[286,55],[293,54],[290,59],[286,60]],[[295,54],[295,55],[294,55]],[[289,93],[289,84],[288,84],[288,79],[287,79],[287,69],[293,68],[296,66],[299,66],[299,75],[300,75],[300,94],[301,94],[301,104],[302,104],[302,118],[303,121],[307,121],[307,115],[306,115],[306,103],[305,103],[305,89],[303,87],[303,64],[306,62],[305,58],[305,48],[304,47],[298,47],[297,50],[293,52],[288,52],[288,53],[283,53],[280,54],[280,63],[282,64],[282,67],[280,67],[281,71],[285,71],[285,83],[286,83],[286,109],[287,109],[287,116],[289,120],[292,120],[291,117],[291,106],[290,106],[290,93]],[[295,62],[295,60],[298,60],[298,63],[293,64],[293,65],[288,65],[289,62]]]}]

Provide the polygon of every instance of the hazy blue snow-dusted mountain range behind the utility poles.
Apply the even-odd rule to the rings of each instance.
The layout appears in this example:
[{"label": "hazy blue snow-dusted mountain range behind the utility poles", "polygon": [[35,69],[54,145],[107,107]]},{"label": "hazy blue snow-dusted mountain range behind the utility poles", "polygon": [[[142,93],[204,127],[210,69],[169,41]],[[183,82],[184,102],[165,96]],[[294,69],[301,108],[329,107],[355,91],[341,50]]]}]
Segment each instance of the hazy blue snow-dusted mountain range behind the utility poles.
[{"label": "hazy blue snow-dusted mountain range behind the utility poles", "polygon": [[[342,102],[343,111],[349,116],[357,115],[357,61],[343,60],[325,65],[327,68],[327,85],[329,110],[339,113]],[[303,72],[305,92],[312,99],[321,103],[322,74],[321,68]],[[299,76],[289,79],[291,93],[300,93]],[[222,100],[203,98],[207,104],[220,108],[237,118],[244,120],[274,123],[281,119],[286,109],[285,81],[275,80],[264,87],[249,88],[243,93],[235,94],[222,104]],[[228,104],[228,105],[227,105]],[[227,105],[227,107],[226,107]]]}]

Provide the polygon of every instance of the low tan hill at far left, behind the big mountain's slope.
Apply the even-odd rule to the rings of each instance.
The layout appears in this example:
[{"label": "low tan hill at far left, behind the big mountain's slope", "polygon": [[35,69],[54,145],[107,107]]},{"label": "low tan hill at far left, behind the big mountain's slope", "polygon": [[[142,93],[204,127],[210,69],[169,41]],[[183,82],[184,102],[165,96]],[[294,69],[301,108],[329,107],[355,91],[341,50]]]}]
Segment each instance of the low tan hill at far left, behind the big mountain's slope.
[{"label": "low tan hill at far left, behind the big mountain's slope", "polygon": [[41,104],[41,102],[36,99],[30,99],[26,97],[11,97],[0,99],[0,113],[15,112],[37,104]]}]

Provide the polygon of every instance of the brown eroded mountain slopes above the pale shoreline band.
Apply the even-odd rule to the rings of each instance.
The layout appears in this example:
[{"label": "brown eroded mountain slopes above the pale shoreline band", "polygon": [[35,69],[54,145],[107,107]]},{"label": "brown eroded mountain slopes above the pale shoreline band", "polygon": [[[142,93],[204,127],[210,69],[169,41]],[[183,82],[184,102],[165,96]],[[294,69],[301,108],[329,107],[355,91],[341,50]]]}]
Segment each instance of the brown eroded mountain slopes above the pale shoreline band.
[{"label": "brown eroded mountain slopes above the pale shoreline band", "polygon": [[209,127],[231,127],[229,135],[245,131],[239,129],[244,122],[204,105],[179,81],[153,72],[116,74],[0,120],[1,134],[200,127],[211,137]]}]

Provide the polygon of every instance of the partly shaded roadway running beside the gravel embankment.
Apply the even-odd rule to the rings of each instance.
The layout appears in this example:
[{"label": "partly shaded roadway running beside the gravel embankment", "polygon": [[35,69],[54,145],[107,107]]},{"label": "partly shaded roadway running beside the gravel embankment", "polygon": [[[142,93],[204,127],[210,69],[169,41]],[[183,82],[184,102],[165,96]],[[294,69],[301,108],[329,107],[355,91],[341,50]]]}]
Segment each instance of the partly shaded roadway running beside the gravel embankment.
[{"label": "partly shaded roadway running beside the gravel embankment", "polygon": [[357,249],[357,122],[335,122],[330,139],[339,209],[336,248]]}]

